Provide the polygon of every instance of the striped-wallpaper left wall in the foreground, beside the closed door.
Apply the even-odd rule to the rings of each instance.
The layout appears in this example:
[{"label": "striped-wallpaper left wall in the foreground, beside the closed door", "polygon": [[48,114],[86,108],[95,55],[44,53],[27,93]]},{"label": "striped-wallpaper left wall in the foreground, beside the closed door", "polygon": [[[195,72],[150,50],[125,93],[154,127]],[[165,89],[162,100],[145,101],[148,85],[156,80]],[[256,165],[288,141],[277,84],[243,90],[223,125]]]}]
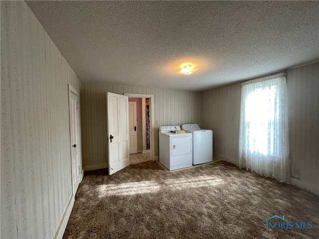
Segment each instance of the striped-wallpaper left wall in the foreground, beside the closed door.
[{"label": "striped-wallpaper left wall in the foreground, beside the closed door", "polygon": [[72,195],[67,84],[80,81],[24,1],[0,4],[0,238],[53,238]]}]

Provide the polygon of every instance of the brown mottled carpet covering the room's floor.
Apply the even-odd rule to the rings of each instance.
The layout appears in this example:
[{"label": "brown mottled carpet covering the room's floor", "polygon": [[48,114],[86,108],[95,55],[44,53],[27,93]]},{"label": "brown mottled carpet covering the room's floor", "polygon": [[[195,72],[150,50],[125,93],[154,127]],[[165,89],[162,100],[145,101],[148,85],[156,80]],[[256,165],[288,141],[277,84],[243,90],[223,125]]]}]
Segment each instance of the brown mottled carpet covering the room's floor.
[{"label": "brown mottled carpet covering the room's floor", "polygon": [[[264,220],[279,227],[266,230]],[[277,222],[277,224],[276,224]],[[289,224],[291,222],[291,224]],[[295,228],[305,222],[312,228]],[[64,239],[319,238],[319,196],[219,161],[165,171],[155,161],[85,174]]]}]

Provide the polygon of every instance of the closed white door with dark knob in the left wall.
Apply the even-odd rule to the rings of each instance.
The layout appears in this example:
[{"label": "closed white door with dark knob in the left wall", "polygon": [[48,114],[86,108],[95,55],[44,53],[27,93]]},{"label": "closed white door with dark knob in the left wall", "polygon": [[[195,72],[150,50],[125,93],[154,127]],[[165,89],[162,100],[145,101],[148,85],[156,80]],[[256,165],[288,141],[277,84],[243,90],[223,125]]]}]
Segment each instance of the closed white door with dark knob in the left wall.
[{"label": "closed white door with dark knob in the left wall", "polygon": [[73,195],[75,195],[82,179],[82,165],[79,158],[79,111],[78,92],[69,86],[69,122],[71,147],[71,174]]}]

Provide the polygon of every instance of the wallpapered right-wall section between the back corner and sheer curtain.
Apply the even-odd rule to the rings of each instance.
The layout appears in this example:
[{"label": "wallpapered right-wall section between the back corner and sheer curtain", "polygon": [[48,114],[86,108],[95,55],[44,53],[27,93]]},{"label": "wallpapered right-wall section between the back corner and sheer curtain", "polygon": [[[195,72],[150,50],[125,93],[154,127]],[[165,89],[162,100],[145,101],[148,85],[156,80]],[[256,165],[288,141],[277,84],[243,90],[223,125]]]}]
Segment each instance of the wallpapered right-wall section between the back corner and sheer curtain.
[{"label": "wallpapered right-wall section between the back corner and sheer curtain", "polygon": [[237,164],[240,83],[214,88],[201,95],[201,128],[213,131],[213,156]]}]

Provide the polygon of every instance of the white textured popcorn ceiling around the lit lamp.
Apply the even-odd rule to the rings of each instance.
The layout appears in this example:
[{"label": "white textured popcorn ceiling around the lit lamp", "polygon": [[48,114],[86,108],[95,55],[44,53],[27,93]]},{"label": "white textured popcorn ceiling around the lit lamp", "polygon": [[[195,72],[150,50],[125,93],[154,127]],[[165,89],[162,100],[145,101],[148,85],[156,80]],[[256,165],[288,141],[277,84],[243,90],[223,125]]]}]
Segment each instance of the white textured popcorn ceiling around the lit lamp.
[{"label": "white textured popcorn ceiling around the lit lamp", "polygon": [[82,82],[202,91],[319,61],[319,1],[27,4]]}]

